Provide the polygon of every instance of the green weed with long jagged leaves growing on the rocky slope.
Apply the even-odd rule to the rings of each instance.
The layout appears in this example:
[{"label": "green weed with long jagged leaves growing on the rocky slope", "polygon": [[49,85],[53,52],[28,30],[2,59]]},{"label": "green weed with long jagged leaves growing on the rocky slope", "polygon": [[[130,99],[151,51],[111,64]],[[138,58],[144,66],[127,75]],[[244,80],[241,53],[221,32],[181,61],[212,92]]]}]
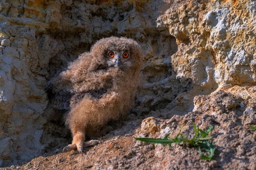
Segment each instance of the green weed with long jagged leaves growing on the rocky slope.
[{"label": "green weed with long jagged leaves growing on the rocky slope", "polygon": [[[209,128],[204,131],[200,128],[196,128],[195,124],[193,123],[193,128],[195,130],[195,135],[192,139],[189,139],[187,136],[182,135],[181,134],[181,130],[179,134],[175,137],[175,138],[170,138],[169,139],[169,134],[167,134],[164,139],[162,138],[157,138],[157,139],[153,139],[153,138],[135,138],[136,140],[139,141],[144,141],[144,142],[148,142],[151,144],[163,144],[163,145],[168,145],[170,148],[172,147],[171,144],[175,143],[175,144],[188,144],[190,147],[198,147],[198,151],[200,156],[202,157],[202,159],[204,160],[210,160],[212,159],[213,155],[214,155],[214,151],[215,151],[215,146],[214,146],[214,141],[212,140],[212,142],[210,143],[209,140],[212,139],[211,136],[207,136],[209,134],[209,132],[211,132],[213,130],[213,126],[209,126]],[[209,152],[209,154],[203,154],[201,148],[203,149],[203,151],[205,152]]]}]

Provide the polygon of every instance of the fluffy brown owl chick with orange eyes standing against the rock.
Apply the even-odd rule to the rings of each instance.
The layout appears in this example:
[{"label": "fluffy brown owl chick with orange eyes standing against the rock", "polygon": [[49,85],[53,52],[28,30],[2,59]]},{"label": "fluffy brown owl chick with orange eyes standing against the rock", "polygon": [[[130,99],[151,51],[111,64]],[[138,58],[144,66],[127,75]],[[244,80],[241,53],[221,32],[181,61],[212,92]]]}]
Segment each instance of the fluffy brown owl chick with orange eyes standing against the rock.
[{"label": "fluffy brown owl chick with orange eyes standing against the rock", "polygon": [[83,153],[85,134],[129,112],[142,65],[139,44],[129,38],[103,38],[50,81],[49,106],[68,110],[73,136],[64,150]]}]

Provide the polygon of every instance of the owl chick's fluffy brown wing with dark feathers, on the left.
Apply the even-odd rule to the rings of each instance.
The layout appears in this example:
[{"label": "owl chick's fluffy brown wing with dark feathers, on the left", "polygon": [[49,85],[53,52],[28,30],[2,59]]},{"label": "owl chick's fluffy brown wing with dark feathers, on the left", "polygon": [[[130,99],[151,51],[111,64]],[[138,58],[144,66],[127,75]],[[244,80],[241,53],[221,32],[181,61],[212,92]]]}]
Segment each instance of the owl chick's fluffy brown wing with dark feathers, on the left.
[{"label": "owl chick's fluffy brown wing with dark feathers, on the left", "polygon": [[[78,66],[76,66],[77,64]],[[99,99],[106,93],[107,87],[111,84],[111,75],[105,74],[106,65],[102,63],[93,64],[89,67],[91,70],[86,68],[85,71],[85,69],[78,69],[80,67],[84,68],[84,66],[80,66],[81,64],[83,64],[83,61],[76,60],[66,71],[56,75],[48,82],[47,93],[50,107],[58,110],[70,110],[83,97]],[[101,71],[100,76],[104,81],[95,78],[99,76],[99,71]],[[92,84],[98,88],[92,89]],[[104,88],[101,88],[103,86]]]}]

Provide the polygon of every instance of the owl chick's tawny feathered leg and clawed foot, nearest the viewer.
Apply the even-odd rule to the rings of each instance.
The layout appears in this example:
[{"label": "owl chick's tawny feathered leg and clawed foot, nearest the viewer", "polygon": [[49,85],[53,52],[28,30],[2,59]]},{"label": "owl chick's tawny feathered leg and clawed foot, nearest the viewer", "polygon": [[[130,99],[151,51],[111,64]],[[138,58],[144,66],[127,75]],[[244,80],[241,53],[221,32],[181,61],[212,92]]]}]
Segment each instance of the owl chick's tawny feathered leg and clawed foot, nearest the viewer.
[{"label": "owl chick's tawny feathered leg and clawed foot, nearest the viewer", "polygon": [[77,130],[76,128],[71,127],[71,132],[73,135],[72,144],[65,146],[63,152],[78,150],[79,153],[83,153],[83,142],[85,140],[85,130]]}]

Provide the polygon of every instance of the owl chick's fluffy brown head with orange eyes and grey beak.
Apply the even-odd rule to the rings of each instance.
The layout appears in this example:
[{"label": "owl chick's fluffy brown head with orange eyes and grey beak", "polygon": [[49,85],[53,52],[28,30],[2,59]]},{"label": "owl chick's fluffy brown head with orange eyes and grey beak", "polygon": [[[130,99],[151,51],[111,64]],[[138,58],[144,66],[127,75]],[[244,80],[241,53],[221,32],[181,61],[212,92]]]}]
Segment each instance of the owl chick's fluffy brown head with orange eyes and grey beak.
[{"label": "owl chick's fluffy brown head with orange eyes and grey beak", "polygon": [[130,38],[103,38],[92,46],[91,53],[98,60],[105,61],[111,68],[125,70],[139,68],[142,64],[141,47]]}]

